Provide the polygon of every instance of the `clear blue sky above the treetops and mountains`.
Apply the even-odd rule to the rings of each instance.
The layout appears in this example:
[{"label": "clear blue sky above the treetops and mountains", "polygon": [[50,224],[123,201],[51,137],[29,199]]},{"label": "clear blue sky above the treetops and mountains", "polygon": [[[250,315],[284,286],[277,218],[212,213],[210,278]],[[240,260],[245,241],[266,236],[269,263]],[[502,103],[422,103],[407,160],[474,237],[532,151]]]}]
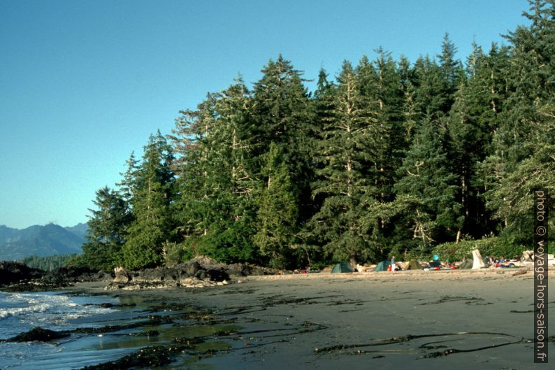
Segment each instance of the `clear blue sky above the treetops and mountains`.
[{"label": "clear blue sky above the treetops and mountains", "polygon": [[[0,225],[86,222],[151,133],[280,53],[305,78],[343,59],[465,59],[525,24],[525,0],[0,1]],[[314,84],[308,83],[312,89]]]}]

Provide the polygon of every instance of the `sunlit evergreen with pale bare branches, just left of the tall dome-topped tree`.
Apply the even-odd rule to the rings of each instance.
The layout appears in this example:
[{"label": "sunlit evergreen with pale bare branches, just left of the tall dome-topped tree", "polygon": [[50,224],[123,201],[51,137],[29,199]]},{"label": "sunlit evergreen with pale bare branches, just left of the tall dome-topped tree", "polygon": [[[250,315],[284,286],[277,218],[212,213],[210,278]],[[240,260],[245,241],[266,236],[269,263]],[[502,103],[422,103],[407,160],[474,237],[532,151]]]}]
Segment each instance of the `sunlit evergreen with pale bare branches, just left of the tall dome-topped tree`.
[{"label": "sunlit evergreen with pale bare branches, just left of the tall dome-topped tree", "polygon": [[250,100],[242,80],[217,94],[217,122],[206,137],[209,145],[206,185],[212,213],[203,252],[224,262],[257,261],[252,235],[256,206]]}]

